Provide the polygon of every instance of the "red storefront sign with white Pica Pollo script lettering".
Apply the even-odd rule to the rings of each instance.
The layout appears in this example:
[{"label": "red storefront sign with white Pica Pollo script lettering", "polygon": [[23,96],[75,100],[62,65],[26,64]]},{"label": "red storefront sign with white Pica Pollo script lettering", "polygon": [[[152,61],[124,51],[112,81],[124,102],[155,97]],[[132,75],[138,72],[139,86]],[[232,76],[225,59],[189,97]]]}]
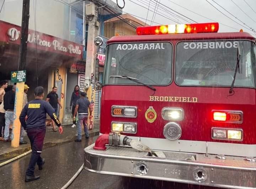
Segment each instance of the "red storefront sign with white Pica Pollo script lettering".
[{"label": "red storefront sign with white Pica Pollo script lettering", "polygon": [[[15,43],[20,45],[20,26],[0,21],[0,41]],[[28,48],[38,48],[39,50],[52,51],[67,56],[82,57],[82,45],[72,41],[47,35],[34,30],[28,30]]]}]

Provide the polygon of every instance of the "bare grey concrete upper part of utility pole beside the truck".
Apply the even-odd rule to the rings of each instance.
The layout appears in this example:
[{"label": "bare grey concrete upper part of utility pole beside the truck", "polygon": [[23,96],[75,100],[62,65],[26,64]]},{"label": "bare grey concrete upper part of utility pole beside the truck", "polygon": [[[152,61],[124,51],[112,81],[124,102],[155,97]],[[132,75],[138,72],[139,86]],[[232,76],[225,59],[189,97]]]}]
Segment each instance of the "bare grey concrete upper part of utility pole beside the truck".
[{"label": "bare grey concrete upper part of utility pole beside the truck", "polygon": [[97,52],[97,47],[94,45],[94,39],[97,37],[99,24],[97,22],[98,12],[95,5],[95,15],[88,16],[88,38],[87,38],[87,52],[86,52],[86,67],[85,67],[85,83],[91,85],[91,74],[94,73],[94,56]]}]

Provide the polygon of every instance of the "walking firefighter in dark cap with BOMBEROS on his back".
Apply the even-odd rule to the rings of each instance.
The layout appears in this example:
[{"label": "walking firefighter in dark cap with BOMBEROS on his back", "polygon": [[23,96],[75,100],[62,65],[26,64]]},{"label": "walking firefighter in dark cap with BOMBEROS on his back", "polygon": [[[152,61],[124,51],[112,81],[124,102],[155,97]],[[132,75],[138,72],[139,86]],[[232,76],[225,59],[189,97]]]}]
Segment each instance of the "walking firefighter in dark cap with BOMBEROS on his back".
[{"label": "walking firefighter in dark cap with BOMBEROS on his back", "polygon": [[[28,138],[30,139],[32,155],[26,171],[25,182],[37,180],[40,176],[34,175],[36,163],[39,170],[43,169],[44,159],[41,158],[43,149],[43,140],[46,134],[46,113],[54,120],[59,127],[59,133],[62,134],[63,129],[57,118],[52,106],[43,99],[43,87],[36,87],[34,90],[35,99],[28,102],[20,114],[20,122],[22,127],[26,129]],[[25,117],[27,120],[25,121]]]}]

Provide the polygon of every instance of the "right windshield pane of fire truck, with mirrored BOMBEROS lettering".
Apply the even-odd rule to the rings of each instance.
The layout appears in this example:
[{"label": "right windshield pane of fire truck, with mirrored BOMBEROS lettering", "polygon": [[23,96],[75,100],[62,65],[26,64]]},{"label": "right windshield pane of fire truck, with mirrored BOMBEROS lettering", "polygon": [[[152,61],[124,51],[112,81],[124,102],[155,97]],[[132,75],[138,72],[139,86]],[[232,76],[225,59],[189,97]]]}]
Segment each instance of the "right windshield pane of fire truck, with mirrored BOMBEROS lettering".
[{"label": "right windshield pane of fire truck, with mirrored BOMBEROS lettering", "polygon": [[255,87],[255,44],[246,40],[187,41],[176,45],[175,81],[178,85]]}]

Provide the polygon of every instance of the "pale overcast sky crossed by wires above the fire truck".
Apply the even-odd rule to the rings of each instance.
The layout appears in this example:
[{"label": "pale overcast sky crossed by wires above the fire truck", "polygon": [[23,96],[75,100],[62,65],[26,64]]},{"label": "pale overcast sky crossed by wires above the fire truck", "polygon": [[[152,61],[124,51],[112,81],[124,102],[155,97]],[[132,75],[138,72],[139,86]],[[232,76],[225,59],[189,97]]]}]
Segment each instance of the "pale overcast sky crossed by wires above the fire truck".
[{"label": "pale overcast sky crossed by wires above the fire truck", "polygon": [[[113,0],[113,1],[116,2],[116,0]],[[141,17],[139,19],[142,21],[145,21],[148,14],[147,23],[148,24],[151,23],[153,18],[153,12],[156,6],[156,0],[124,0],[124,1],[125,1],[125,7],[123,9],[124,12]],[[193,21],[196,21],[198,23],[203,23],[203,22],[216,21],[216,22],[219,22],[220,24],[219,32],[238,32],[240,29],[243,29],[245,32],[255,34],[254,36],[256,37],[256,33],[254,33],[251,29],[249,29],[249,28],[252,28],[256,32],[256,0],[157,0],[157,1],[158,2],[160,1],[162,5],[161,4],[159,5],[157,9],[158,14],[156,14],[154,18],[154,22],[157,22],[157,23],[153,23],[152,25],[159,25],[159,23],[160,24],[192,23]],[[230,20],[228,17],[224,16],[221,12],[216,10],[207,1],[210,2],[212,5],[214,5],[215,7],[217,7],[217,9],[223,12],[226,16],[240,23],[241,25]],[[220,6],[222,6],[224,9],[226,9],[228,12],[230,12],[233,16],[230,15],[230,13],[226,12],[224,9],[222,9],[214,1],[218,3]],[[122,0],[118,0],[118,2],[120,5],[123,5]],[[149,2],[150,2],[150,8],[148,12]],[[137,5],[135,3],[140,5]],[[238,6],[236,6],[235,4]],[[178,15],[178,13],[168,9],[164,5],[192,19],[193,21],[190,21],[190,22],[186,21],[188,20],[188,18]],[[144,6],[145,8],[143,8],[142,6]],[[199,16],[196,13],[207,18]],[[178,15],[178,17],[176,15]],[[236,19],[234,16],[238,18],[240,21],[242,21],[243,23],[240,22],[238,19]],[[179,17],[183,17],[186,20],[182,20]]]}]

